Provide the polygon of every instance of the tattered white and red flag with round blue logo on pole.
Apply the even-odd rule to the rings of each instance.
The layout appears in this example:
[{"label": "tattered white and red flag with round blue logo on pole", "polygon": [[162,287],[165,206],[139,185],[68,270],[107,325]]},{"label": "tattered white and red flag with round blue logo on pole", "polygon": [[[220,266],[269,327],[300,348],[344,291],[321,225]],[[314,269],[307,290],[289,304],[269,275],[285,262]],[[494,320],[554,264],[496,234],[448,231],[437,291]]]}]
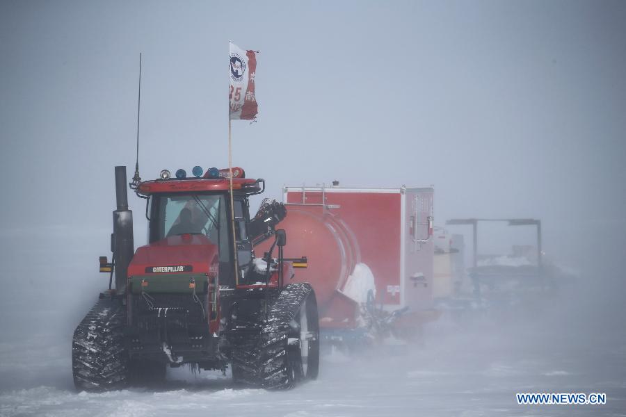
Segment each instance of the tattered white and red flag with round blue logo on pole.
[{"label": "tattered white and red flag with round blue logo on pole", "polygon": [[230,42],[230,119],[253,120],[259,106],[255,97],[255,51],[244,51]]}]

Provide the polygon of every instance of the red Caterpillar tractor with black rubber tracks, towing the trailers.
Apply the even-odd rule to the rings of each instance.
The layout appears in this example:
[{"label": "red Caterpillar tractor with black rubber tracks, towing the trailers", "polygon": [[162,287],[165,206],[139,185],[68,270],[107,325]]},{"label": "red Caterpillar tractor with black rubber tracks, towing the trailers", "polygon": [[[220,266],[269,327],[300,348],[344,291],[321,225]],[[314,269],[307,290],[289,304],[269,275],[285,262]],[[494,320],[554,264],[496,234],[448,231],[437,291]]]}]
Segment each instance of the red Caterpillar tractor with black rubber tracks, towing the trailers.
[{"label": "red Caterpillar tractor with black rubber tracks, towing the trailers", "polygon": [[[232,178],[230,170],[192,172],[172,178],[163,170],[150,181],[136,172],[129,185],[146,200],[148,236],[134,252],[126,167],[115,167],[113,256],[100,257],[109,290],[74,332],[78,390],[146,386],[165,379],[168,366],[185,365],[223,373],[230,366],[235,384],[264,389],[317,377],[316,298],[310,284],[290,283],[307,259],[283,257],[287,238],[275,227],[284,206],[265,199],[250,219],[248,198],[263,193],[263,179],[241,168]],[[252,245],[270,238],[268,252],[255,256]]]}]

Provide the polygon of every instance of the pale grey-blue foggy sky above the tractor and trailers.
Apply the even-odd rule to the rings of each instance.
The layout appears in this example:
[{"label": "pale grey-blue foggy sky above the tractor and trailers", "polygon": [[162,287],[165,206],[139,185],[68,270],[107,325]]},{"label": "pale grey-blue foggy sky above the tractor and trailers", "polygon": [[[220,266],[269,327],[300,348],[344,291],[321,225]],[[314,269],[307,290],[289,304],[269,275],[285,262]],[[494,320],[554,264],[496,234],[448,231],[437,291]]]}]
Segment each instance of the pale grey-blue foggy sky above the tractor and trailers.
[{"label": "pale grey-blue foggy sky above the tractor and trailers", "polygon": [[139,52],[142,177],[227,166],[228,40],[260,51],[234,165],[268,197],[432,184],[437,224],[536,217],[557,259],[623,253],[624,22],[618,1],[2,1],[3,256],[59,233],[60,261],[108,252]]}]

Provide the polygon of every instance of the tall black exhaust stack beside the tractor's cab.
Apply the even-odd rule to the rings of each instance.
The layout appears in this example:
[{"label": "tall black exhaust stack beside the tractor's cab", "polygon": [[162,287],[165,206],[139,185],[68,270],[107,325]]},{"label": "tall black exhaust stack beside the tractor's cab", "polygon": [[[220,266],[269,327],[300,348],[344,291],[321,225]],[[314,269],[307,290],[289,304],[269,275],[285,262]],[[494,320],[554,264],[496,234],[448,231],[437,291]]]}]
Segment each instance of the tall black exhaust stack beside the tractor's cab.
[{"label": "tall black exhaust stack beside the tractor's cab", "polygon": [[115,290],[126,289],[128,264],[135,252],[133,242],[133,212],[128,209],[126,167],[115,167],[115,197],[118,209],[113,211],[113,262]]}]

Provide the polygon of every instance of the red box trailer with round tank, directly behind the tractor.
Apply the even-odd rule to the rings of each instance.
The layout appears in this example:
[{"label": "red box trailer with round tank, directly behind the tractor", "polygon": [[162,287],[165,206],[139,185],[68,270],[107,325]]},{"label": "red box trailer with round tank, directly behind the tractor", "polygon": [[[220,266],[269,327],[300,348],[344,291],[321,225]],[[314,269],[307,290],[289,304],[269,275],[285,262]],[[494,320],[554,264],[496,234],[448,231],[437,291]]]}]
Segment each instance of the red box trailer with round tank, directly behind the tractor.
[{"label": "red box trailer with round tank, directly behind the tractor", "polygon": [[381,325],[410,333],[436,318],[433,193],[404,186],[283,189],[285,256],[308,259],[292,281],[314,287],[326,336]]}]

